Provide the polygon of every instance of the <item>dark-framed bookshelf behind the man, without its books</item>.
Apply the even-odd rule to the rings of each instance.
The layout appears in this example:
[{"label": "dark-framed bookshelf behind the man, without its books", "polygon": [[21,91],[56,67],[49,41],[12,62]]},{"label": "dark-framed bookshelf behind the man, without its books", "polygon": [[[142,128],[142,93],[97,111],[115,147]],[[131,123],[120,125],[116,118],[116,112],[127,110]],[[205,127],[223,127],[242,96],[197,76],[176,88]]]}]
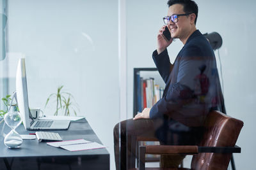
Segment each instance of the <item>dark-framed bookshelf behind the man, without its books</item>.
[{"label": "dark-framed bookshelf behind the man, without its books", "polygon": [[[133,116],[135,116],[138,111],[141,111],[143,108],[143,99],[142,101],[139,101],[141,97],[143,97],[143,85],[141,85],[141,79],[144,80],[151,80],[153,81],[152,88],[154,89],[154,85],[159,85],[161,87],[160,90],[163,90],[163,87],[165,86],[163,79],[161,78],[160,74],[157,71],[156,67],[135,67],[133,71],[133,78],[134,78],[134,88],[133,88]],[[140,87],[138,87],[140,86]],[[145,89],[144,89],[145,90]],[[142,95],[141,95],[142,92]],[[145,97],[145,96],[144,96]],[[144,101],[145,102],[145,101]],[[145,104],[144,104],[145,106]]]}]

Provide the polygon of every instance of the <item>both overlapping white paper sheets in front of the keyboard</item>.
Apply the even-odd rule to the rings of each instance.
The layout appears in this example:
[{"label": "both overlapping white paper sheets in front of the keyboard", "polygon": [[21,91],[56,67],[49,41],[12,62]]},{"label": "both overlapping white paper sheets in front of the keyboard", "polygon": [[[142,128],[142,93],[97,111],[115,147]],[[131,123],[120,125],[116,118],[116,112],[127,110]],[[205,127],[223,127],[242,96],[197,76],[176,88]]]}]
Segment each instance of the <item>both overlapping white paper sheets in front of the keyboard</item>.
[{"label": "both overlapping white paper sheets in front of the keyboard", "polygon": [[93,150],[93,149],[99,149],[99,148],[106,148],[106,146],[104,145],[100,145],[99,143],[96,143],[96,142],[86,141],[84,139],[48,142],[47,145],[60,147],[69,151]]}]

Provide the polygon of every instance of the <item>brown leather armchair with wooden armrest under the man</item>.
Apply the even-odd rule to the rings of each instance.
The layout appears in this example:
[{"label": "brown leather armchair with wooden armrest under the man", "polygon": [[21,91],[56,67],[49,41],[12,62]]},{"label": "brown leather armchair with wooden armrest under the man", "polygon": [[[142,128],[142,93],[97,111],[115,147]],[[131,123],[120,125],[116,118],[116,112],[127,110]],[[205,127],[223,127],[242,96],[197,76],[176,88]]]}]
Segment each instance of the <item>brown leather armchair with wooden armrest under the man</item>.
[{"label": "brown leather armchair with wooden armrest under the man", "polygon": [[[140,146],[139,169],[145,169],[145,154],[184,154],[193,155],[191,169],[226,170],[232,153],[241,153],[236,141],[243,122],[220,111],[211,111],[205,119],[204,127],[204,138],[199,146]],[[177,168],[172,170],[174,169]],[[187,168],[178,169],[187,170]]]}]

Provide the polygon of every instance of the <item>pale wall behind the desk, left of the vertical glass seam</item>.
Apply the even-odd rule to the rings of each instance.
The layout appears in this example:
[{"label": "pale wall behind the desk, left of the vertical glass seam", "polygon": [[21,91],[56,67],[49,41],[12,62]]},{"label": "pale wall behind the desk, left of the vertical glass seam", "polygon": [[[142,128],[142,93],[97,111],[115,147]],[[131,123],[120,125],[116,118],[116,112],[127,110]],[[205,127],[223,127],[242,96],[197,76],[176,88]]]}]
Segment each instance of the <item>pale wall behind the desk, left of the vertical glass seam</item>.
[{"label": "pale wall behind the desk, left of the vertical glass seam", "polygon": [[[26,56],[29,106],[44,109],[57,87],[71,92],[111,154],[118,103],[118,2],[9,1],[10,92],[17,60]],[[45,110],[52,115],[54,108]]]}]

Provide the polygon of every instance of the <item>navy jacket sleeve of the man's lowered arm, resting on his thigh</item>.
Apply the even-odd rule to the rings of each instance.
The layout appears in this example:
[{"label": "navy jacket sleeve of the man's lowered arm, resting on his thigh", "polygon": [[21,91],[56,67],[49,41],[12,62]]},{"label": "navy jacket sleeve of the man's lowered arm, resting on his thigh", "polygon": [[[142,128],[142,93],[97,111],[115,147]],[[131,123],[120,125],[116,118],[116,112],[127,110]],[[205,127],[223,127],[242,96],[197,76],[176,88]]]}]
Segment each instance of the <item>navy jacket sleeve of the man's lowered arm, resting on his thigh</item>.
[{"label": "navy jacket sleeve of the man's lowered arm, resting on his thigh", "polygon": [[172,115],[180,107],[195,102],[195,77],[200,74],[200,66],[204,64],[200,59],[200,50],[196,47],[186,48],[180,57],[179,67],[173,70],[177,74],[177,82],[171,83],[166,95],[150,110],[150,118]]}]

